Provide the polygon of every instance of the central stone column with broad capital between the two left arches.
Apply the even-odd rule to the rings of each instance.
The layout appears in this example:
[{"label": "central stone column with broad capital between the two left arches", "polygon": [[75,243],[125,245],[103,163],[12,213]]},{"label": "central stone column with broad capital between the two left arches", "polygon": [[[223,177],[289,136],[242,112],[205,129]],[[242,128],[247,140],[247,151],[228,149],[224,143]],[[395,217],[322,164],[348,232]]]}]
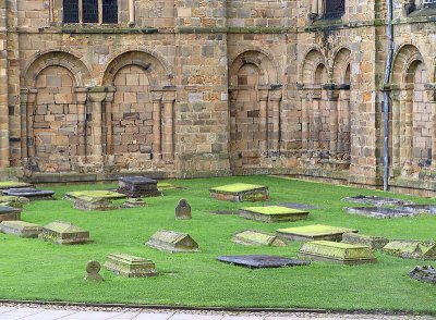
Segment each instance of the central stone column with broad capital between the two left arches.
[{"label": "central stone column with broad capital between the two left arches", "polygon": [[90,148],[93,162],[102,164],[102,121],[101,121],[101,104],[106,99],[105,88],[95,87],[88,93],[88,100],[92,107],[90,121]]}]

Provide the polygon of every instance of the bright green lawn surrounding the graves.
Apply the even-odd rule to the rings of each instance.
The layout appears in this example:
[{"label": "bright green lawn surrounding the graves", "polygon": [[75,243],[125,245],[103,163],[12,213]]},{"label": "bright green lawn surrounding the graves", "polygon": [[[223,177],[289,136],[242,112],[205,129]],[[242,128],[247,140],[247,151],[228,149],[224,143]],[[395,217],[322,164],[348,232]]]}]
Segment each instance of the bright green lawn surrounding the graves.
[{"label": "bright green lawn surrounding the graves", "polygon": [[[365,310],[408,310],[436,313],[436,286],[409,278],[408,272],[429,261],[405,260],[376,253],[378,262],[339,266],[314,262],[310,267],[250,270],[216,260],[219,255],[269,254],[295,257],[300,247],[245,247],[233,244],[235,232],[307,224],[330,224],[358,229],[362,234],[389,238],[432,239],[436,237],[436,216],[378,220],[346,213],[342,208],[359,206],[341,201],[359,194],[379,192],[282,180],[268,176],[169,181],[183,188],[167,189],[165,196],[147,198],[146,208],[85,212],[73,209],[64,193],[108,189],[112,185],[55,186],[55,201],[35,201],[24,208],[22,220],[47,224],[69,221],[89,230],[93,244],[61,246],[39,239],[0,234],[0,298],[89,303],[133,303],[173,306],[283,307]],[[310,210],[308,220],[262,223],[238,216],[211,214],[259,206],[259,202],[228,202],[209,198],[210,187],[229,183],[268,185],[268,204],[305,202],[320,207]],[[46,187],[49,188],[49,187]],[[387,194],[417,204],[433,199]],[[178,200],[187,199],[193,220],[175,221]],[[186,232],[199,244],[201,253],[168,254],[144,245],[158,230]],[[102,270],[102,283],[83,280],[85,266],[95,259],[102,264],[111,253],[152,259],[159,276],[125,279]],[[436,263],[435,263],[436,264]]]}]

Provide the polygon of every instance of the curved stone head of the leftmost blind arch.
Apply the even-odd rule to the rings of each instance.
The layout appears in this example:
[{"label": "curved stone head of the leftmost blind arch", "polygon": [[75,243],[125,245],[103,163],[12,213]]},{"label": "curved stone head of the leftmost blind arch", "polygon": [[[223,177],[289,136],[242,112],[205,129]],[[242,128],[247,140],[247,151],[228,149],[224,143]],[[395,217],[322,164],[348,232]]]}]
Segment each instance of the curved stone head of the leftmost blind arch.
[{"label": "curved stone head of the leftmost blind arch", "polygon": [[34,87],[40,72],[49,66],[62,66],[70,71],[74,77],[75,86],[83,87],[90,78],[90,73],[85,63],[76,56],[64,51],[49,51],[37,54],[35,60],[23,73],[24,86]]}]

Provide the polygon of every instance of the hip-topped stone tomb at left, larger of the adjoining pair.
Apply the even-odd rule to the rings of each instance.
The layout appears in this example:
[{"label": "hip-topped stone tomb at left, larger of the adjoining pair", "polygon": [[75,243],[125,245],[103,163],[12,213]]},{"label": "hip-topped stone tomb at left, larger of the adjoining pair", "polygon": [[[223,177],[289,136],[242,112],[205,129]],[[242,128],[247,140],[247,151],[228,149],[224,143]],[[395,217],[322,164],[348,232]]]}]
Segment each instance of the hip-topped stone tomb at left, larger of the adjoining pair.
[{"label": "hip-topped stone tomb at left, larger of the adjoining pair", "polygon": [[63,221],[55,221],[43,227],[39,238],[61,245],[87,244],[93,242],[89,232]]}]

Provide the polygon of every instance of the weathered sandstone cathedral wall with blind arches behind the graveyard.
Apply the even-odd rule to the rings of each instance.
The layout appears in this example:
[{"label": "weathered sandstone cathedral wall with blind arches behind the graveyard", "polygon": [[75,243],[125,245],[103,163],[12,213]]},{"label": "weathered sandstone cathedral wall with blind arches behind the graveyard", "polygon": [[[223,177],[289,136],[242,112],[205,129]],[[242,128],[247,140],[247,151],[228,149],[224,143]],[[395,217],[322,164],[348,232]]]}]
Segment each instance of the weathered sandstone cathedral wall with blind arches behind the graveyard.
[{"label": "weathered sandstone cathedral wall with blind arches behind the graveyard", "polygon": [[435,15],[435,0],[1,0],[1,171],[432,195]]}]

